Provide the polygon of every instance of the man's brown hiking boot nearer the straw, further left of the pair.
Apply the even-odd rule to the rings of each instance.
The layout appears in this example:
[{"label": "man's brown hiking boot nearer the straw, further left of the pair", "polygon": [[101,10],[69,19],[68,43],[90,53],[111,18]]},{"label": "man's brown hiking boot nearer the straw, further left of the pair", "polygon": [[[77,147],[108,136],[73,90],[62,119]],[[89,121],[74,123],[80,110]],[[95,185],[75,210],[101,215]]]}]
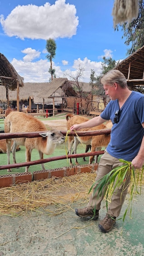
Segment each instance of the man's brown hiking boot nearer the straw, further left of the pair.
[{"label": "man's brown hiking boot nearer the straw, further left of the pair", "polygon": [[83,209],[75,209],[75,212],[79,217],[89,217],[89,219],[92,218],[94,221],[99,217],[99,210],[88,209],[87,207]]}]

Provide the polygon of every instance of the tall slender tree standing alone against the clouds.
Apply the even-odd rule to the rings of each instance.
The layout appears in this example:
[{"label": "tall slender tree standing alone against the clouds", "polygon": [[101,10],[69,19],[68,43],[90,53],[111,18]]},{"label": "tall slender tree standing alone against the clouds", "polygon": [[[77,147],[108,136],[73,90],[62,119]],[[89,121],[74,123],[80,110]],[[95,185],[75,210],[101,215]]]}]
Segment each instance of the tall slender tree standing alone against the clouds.
[{"label": "tall slender tree standing alone against the clouds", "polygon": [[46,49],[49,54],[47,54],[46,58],[48,58],[48,60],[50,61],[50,68],[49,68],[48,72],[51,74],[51,80],[53,80],[53,77],[56,77],[55,69],[52,68],[52,59],[55,58],[56,48],[57,48],[57,45],[56,45],[55,41],[51,38],[48,39],[47,43],[46,43]]}]

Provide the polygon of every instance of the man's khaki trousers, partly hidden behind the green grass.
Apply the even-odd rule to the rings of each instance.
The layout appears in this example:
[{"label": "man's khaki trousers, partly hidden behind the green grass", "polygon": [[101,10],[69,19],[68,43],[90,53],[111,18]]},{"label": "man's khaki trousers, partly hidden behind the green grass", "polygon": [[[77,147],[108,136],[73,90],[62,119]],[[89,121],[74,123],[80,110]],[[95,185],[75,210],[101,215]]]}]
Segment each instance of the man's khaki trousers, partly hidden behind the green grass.
[{"label": "man's khaki trousers, partly hidden behind the green grass", "polygon": [[[98,166],[97,175],[96,175],[96,181],[98,179],[101,179],[104,175],[108,174],[112,169],[123,165],[124,163],[121,163],[119,159],[112,157],[107,151],[105,150],[104,155],[101,156],[101,160]],[[97,185],[98,183],[96,183]],[[93,191],[96,188],[96,185],[93,187]],[[115,189],[114,193],[111,197],[111,203],[108,208],[108,214],[112,217],[118,217],[120,214],[120,210],[122,208],[122,205],[125,201],[125,197],[128,191],[128,187],[130,185],[130,174],[127,175],[125,185],[123,187]],[[98,195],[98,189],[96,192],[91,194],[89,203],[87,205],[87,208],[95,208],[96,210],[100,210],[101,208],[101,201],[104,198],[106,193],[106,188],[103,188],[103,191],[101,195]]]}]

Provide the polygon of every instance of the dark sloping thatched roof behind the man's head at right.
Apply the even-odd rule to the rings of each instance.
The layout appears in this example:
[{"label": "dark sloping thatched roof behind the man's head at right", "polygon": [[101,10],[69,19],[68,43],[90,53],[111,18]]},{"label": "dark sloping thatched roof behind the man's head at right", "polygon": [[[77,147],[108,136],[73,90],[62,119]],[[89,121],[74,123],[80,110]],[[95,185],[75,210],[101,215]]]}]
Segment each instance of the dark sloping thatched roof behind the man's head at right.
[{"label": "dark sloping thatched roof behind the man's head at right", "polygon": [[121,61],[114,69],[125,75],[128,86],[144,87],[144,46]]}]

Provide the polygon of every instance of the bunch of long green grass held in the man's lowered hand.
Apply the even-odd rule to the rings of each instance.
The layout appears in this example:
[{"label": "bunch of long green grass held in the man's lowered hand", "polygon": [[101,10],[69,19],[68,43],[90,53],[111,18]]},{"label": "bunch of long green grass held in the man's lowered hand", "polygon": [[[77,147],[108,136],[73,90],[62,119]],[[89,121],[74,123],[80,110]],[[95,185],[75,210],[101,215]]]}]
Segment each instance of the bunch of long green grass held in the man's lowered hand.
[{"label": "bunch of long green grass held in the man's lowered hand", "polygon": [[[111,193],[114,193],[115,188],[125,187],[126,177],[128,174],[130,174],[130,198],[128,207],[125,210],[123,221],[125,220],[126,213],[130,209],[130,215],[132,212],[132,201],[133,196],[135,193],[141,194],[141,185],[142,185],[142,177],[144,173],[144,166],[142,167],[142,170],[137,169],[137,177],[135,175],[134,166],[129,161],[125,161],[124,159],[119,159],[120,162],[125,163],[122,166],[116,167],[115,169],[112,169],[108,174],[106,174],[104,177],[96,181],[98,184],[96,185],[96,188],[94,189],[93,193],[95,194],[98,190],[98,196],[101,196],[101,193],[103,191],[103,188],[106,188],[106,208],[108,210],[108,196]],[[92,188],[95,186],[95,184],[92,184],[89,193],[91,192]],[[123,191],[122,191],[123,193]]]}]

